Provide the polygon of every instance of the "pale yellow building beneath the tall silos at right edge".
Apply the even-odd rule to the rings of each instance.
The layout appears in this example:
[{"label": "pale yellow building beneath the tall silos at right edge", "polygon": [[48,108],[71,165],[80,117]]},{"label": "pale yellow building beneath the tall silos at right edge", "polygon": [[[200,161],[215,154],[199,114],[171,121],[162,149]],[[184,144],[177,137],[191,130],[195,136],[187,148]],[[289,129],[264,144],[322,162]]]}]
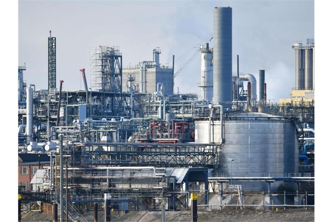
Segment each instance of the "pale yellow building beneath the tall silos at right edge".
[{"label": "pale yellow building beneath the tall silos at right edge", "polygon": [[291,90],[290,99],[279,99],[280,106],[305,105],[314,106],[314,90]]}]

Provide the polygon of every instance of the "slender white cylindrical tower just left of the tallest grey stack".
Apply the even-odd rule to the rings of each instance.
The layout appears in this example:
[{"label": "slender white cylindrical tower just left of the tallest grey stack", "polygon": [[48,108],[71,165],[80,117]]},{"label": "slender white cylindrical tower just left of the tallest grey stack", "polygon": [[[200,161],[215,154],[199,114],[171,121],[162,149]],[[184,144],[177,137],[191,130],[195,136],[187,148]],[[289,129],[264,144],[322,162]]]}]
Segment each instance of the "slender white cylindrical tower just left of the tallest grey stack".
[{"label": "slender white cylindrical tower just left of the tallest grey stack", "polygon": [[201,99],[212,101],[213,99],[213,52],[209,50],[208,43],[201,48]]}]

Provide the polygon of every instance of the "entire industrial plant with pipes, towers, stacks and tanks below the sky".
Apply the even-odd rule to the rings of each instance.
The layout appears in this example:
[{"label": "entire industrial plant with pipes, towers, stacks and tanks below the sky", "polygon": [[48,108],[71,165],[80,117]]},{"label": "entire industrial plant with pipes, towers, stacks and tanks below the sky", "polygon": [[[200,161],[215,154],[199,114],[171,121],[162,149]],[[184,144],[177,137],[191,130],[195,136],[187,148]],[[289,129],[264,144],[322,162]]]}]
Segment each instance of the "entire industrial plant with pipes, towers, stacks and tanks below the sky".
[{"label": "entire industrial plant with pipes, towers, stacks and tanks below the sky", "polygon": [[71,83],[57,78],[59,43],[46,30],[48,89],[25,81],[29,64],[18,67],[19,221],[34,211],[53,221],[131,212],[168,221],[177,211],[210,221],[198,212],[314,209],[314,39],[290,43],[295,87],[272,103],[269,70],[257,64],[256,79],[240,72],[241,55],[232,61],[232,8],[210,16],[212,39],[196,49],[200,95],[174,89],[175,56],[164,64],[163,48],[127,65],[122,46],[98,42],[90,68],[77,67],[84,90],[63,90]]}]

